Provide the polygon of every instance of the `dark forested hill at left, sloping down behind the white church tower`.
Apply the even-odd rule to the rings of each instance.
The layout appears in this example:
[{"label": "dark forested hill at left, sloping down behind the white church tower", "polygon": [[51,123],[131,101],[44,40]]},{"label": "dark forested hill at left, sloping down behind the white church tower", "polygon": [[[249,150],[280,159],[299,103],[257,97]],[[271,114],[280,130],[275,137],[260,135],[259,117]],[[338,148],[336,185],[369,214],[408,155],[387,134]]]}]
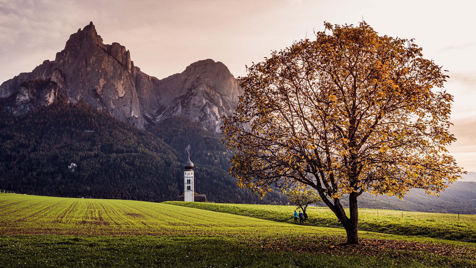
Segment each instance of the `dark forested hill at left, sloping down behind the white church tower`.
[{"label": "dark forested hill at left, sloping down behind the white church tower", "polygon": [[[202,129],[199,126],[189,131],[197,137],[210,133],[200,132]],[[166,136],[162,133],[163,138]],[[276,204],[286,200],[278,195],[260,200],[251,191],[236,186],[220,165],[211,165],[214,160],[198,156],[198,151],[193,158],[193,149],[196,191],[206,194],[209,201]],[[217,151],[221,152],[221,148]],[[184,161],[182,156],[177,157],[183,153],[109,113],[86,103],[67,103],[61,97],[19,116],[0,113],[0,188],[19,193],[176,200],[183,192]],[[213,153],[213,157],[217,155]],[[224,165],[223,157],[219,161]],[[74,172],[68,170],[70,163],[78,165]]]}]

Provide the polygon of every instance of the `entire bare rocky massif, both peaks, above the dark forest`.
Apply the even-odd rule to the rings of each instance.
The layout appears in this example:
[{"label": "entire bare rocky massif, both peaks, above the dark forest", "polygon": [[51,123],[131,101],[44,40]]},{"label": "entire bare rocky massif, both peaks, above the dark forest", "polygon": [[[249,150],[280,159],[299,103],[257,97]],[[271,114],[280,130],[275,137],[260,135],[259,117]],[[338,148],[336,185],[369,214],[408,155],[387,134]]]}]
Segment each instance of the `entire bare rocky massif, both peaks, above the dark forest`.
[{"label": "entire bare rocky massif, both peaks, above the dark forest", "polygon": [[[49,89],[37,94],[37,89],[21,86],[31,80],[49,81]],[[91,22],[69,37],[54,61],[44,61],[32,72],[3,82],[0,103],[3,110],[22,114],[48,105],[60,94],[69,102],[88,103],[139,128],[184,115],[218,131],[219,117],[233,112],[242,93],[228,68],[210,59],[162,80],[149,76],[134,66],[124,46],[103,44]]]}]

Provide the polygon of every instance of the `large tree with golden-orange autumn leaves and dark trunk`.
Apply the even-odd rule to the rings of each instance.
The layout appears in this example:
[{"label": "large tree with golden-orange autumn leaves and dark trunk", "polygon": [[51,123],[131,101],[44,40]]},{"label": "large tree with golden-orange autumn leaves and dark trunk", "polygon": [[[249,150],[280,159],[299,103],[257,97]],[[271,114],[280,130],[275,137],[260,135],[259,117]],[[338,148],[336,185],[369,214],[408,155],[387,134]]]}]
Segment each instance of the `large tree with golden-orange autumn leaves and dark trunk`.
[{"label": "large tree with golden-orange autumn leaves and dark trunk", "polygon": [[[446,146],[448,78],[413,40],[331,25],[247,67],[224,117],[230,173],[262,196],[312,186],[358,243],[357,196],[438,192],[460,178]],[[349,212],[341,198],[348,197]]]}]

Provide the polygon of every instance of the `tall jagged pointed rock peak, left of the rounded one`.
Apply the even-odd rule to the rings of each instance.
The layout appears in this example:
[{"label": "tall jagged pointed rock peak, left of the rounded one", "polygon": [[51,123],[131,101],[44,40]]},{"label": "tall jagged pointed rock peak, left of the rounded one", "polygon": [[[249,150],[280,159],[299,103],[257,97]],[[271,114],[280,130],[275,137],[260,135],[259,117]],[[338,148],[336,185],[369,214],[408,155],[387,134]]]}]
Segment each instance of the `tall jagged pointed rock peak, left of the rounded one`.
[{"label": "tall jagged pointed rock peak, left of the rounded one", "polygon": [[64,50],[56,53],[54,61],[44,61],[32,72],[20,73],[2,83],[0,97],[20,94],[20,84],[24,81],[50,80],[56,83],[57,93],[69,102],[88,103],[142,128],[144,122],[130,72],[130,56],[124,50],[117,43],[104,45],[91,22],[83,30],[71,34]]}]

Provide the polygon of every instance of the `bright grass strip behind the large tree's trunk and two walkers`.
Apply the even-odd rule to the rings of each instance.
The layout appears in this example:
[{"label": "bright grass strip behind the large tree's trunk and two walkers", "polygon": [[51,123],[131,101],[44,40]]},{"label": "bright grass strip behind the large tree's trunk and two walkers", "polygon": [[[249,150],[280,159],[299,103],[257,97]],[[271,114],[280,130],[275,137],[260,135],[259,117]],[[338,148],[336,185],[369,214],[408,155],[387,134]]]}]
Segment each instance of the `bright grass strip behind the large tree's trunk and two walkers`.
[{"label": "bright grass strip behind the large tree's trunk and two walkers", "polygon": [[[294,223],[292,213],[294,209],[296,209],[296,206],[214,204],[177,201],[164,203],[286,223]],[[308,207],[307,215],[309,216],[306,222],[307,226],[342,228],[334,213],[328,208]],[[476,217],[474,217],[474,215],[460,215],[460,221],[458,221],[457,214],[359,209],[359,230],[475,243]]]}]

